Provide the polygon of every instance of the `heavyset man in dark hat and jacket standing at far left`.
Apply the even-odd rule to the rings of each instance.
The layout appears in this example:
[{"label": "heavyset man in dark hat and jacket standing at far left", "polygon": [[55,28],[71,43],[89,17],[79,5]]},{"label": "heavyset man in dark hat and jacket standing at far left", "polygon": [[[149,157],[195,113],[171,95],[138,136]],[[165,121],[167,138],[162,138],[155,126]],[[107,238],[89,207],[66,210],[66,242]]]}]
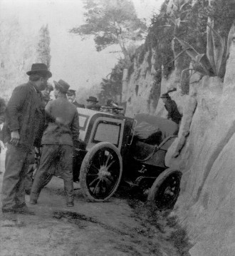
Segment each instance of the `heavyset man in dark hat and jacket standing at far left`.
[{"label": "heavyset man in dark hat and jacket standing at far left", "polygon": [[44,106],[41,91],[51,72],[43,63],[34,63],[27,72],[28,83],[17,86],[6,106],[3,140],[6,143],[5,173],[1,190],[2,212],[16,220],[16,214],[33,214],[25,202],[24,179],[28,170],[28,154],[39,146],[43,128]]}]

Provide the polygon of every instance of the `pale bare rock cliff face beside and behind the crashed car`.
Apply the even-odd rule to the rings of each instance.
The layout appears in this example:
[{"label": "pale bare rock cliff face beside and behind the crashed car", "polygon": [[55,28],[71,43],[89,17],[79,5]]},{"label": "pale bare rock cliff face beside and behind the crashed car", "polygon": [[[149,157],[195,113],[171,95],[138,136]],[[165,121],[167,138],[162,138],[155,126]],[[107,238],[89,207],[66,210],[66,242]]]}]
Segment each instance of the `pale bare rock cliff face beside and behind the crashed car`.
[{"label": "pale bare rock cliff face beside and behind the crashed car", "polygon": [[[224,81],[218,77],[194,76],[189,95],[182,96],[177,83],[179,72],[162,79],[160,92],[166,92],[173,84],[177,91],[172,93],[172,98],[184,114],[179,137],[168,150],[167,165],[183,173],[174,213],[192,240],[192,256],[232,256],[235,252],[234,70],[232,41]],[[135,72],[130,76],[130,88],[125,91],[125,97],[130,98],[128,114],[166,115],[162,101],[156,109],[147,105],[153,79],[151,73],[140,80],[135,79]],[[139,85],[138,93],[135,84]]]}]

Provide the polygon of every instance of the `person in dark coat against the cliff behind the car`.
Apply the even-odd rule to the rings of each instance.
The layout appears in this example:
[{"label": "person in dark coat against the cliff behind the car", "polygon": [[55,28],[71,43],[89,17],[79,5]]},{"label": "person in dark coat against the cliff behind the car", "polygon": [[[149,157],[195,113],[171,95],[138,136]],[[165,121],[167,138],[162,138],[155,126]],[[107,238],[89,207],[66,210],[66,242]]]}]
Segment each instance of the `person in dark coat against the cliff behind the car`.
[{"label": "person in dark coat against the cliff behind the car", "polygon": [[175,103],[175,101],[173,101],[172,98],[170,98],[168,93],[163,93],[162,96],[160,96],[160,98],[162,98],[162,101],[164,102],[164,107],[167,110],[167,119],[179,124],[182,115],[178,111],[177,103]]}]

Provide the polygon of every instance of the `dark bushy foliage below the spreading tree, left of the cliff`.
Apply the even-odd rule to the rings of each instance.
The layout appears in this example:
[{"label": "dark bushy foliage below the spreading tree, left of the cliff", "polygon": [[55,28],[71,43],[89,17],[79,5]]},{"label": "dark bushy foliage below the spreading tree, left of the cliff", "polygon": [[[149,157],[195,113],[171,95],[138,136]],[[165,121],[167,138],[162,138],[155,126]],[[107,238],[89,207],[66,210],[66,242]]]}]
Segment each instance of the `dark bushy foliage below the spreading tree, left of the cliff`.
[{"label": "dark bushy foliage below the spreading tree, left of the cliff", "polygon": [[111,71],[109,78],[103,78],[100,83],[101,91],[98,94],[99,101],[102,105],[106,104],[108,99],[120,103],[122,96],[122,71],[125,68],[125,60],[120,59]]}]

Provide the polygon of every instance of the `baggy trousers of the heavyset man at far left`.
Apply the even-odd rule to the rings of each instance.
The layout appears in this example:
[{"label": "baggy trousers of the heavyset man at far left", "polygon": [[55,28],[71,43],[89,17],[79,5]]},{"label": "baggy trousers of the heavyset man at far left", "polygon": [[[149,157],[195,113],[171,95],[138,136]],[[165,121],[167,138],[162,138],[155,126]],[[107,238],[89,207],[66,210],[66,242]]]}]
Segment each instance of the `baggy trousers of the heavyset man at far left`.
[{"label": "baggy trousers of the heavyset man at far left", "polygon": [[5,173],[1,189],[2,210],[13,210],[25,205],[24,178],[28,153],[8,144],[6,150]]}]

